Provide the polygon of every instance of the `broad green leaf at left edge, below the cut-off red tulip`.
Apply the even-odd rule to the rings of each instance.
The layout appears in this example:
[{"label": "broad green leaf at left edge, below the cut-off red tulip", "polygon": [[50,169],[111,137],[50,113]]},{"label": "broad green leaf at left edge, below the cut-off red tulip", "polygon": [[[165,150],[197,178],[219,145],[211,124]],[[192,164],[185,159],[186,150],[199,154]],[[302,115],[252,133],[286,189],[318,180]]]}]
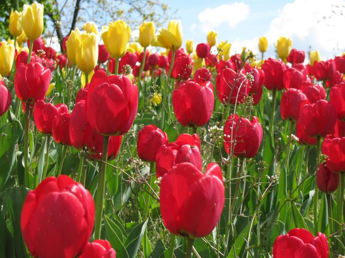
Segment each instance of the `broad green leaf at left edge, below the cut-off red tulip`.
[{"label": "broad green leaf at left edge, below the cut-off red tulip", "polygon": [[18,120],[8,122],[0,128],[0,157],[18,142],[23,135],[23,127]]}]

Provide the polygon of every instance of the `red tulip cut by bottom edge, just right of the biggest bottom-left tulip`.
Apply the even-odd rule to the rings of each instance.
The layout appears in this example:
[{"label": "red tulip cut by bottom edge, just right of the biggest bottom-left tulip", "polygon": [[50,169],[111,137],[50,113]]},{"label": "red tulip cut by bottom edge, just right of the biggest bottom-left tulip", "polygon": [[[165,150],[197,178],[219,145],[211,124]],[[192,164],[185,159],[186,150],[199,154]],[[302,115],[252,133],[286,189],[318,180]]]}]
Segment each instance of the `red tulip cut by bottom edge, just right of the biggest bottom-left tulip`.
[{"label": "red tulip cut by bottom edge, just right of the biggest bottom-left tulip", "polygon": [[116,258],[116,253],[108,241],[98,239],[87,243],[79,258]]}]

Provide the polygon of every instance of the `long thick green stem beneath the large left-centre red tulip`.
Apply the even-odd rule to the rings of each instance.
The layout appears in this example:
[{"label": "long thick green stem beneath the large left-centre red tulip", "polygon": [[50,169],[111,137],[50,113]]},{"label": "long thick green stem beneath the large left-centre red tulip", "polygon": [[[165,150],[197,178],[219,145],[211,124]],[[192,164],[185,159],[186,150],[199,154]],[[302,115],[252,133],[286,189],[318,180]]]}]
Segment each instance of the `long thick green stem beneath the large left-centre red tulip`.
[{"label": "long thick green stem beneath the large left-centre red tulip", "polygon": [[104,136],[102,162],[100,163],[97,185],[96,197],[96,216],[95,216],[95,237],[94,239],[101,239],[101,226],[104,205],[104,191],[106,179],[106,160],[108,157],[109,136]]}]

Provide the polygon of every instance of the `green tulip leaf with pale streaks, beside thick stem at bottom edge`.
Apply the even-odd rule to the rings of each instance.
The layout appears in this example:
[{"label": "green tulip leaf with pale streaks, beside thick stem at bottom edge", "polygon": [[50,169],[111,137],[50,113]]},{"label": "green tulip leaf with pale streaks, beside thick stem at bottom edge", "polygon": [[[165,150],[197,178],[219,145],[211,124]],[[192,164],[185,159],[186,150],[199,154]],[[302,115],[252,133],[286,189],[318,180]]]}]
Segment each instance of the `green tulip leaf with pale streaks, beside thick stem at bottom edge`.
[{"label": "green tulip leaf with pale streaks, beside thick stem at bottom edge", "polygon": [[104,216],[104,228],[107,240],[110,242],[112,248],[116,250],[117,258],[130,258],[124,246],[124,238],[122,230],[110,218]]}]

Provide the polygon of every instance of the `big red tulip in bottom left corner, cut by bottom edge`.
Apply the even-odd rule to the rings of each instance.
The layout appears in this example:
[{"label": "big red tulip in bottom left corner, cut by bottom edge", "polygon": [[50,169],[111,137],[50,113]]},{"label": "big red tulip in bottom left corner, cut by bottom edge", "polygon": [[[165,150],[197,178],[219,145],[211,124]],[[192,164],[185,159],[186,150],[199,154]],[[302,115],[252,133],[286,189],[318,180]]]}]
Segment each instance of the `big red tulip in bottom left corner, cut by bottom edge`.
[{"label": "big red tulip in bottom left corner, cut by bottom edge", "polygon": [[24,241],[33,257],[74,258],[94,227],[91,194],[67,175],[47,177],[28,193],[21,215]]}]

